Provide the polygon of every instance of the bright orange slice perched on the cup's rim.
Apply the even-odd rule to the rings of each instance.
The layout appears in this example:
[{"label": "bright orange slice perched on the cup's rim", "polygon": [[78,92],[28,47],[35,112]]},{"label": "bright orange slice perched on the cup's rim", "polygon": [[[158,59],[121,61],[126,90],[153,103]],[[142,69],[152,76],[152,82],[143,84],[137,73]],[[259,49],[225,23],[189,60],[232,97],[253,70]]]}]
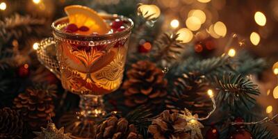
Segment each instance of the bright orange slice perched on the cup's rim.
[{"label": "bright orange slice perched on the cup's rim", "polygon": [[104,22],[104,19],[99,17],[95,10],[86,6],[67,6],[65,7],[65,13],[69,17],[70,24],[90,28],[89,31],[80,32],[83,35],[89,35],[91,33],[106,34],[110,30],[109,26]]}]

